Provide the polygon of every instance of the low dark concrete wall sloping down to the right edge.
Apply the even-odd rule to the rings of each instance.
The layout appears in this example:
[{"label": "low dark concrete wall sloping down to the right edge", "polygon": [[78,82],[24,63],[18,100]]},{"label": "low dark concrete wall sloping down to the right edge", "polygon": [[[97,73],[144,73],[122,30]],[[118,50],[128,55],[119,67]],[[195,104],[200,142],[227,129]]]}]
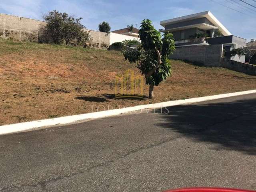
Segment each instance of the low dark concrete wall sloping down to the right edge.
[{"label": "low dark concrete wall sloping down to the right edge", "polygon": [[227,58],[222,58],[221,66],[224,68],[228,68],[230,70],[256,76],[256,65],[246,64],[238,61],[233,61]]}]

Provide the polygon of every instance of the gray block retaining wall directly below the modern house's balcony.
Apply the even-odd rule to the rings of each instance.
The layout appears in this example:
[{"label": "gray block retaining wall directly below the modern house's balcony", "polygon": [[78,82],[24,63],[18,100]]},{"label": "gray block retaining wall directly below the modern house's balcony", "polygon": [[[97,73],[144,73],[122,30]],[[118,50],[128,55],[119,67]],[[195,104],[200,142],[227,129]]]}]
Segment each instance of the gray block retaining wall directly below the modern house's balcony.
[{"label": "gray block retaining wall directly below the modern house's balcony", "polygon": [[220,66],[222,44],[179,47],[169,58],[198,62],[205,66]]}]

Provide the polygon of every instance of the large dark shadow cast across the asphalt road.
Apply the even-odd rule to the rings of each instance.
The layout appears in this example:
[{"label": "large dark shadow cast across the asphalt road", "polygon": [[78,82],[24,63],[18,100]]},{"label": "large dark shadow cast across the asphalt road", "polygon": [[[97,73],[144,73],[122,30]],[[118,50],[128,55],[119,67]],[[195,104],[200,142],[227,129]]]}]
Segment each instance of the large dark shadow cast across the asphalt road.
[{"label": "large dark shadow cast across the asphalt road", "polygon": [[256,155],[256,99],[168,107],[162,117],[166,122],[158,126],[199,142],[218,144],[215,150]]}]

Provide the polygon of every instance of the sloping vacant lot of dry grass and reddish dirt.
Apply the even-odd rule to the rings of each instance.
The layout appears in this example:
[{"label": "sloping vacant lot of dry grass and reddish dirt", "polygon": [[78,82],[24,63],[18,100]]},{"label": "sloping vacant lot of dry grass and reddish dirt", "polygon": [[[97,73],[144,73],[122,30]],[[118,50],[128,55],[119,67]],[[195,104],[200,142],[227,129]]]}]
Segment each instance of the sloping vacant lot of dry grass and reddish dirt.
[{"label": "sloping vacant lot of dry grass and reddish dirt", "polygon": [[116,51],[0,41],[0,125],[256,88],[255,76],[172,61],[153,100],[114,100],[128,69],[139,74]]}]

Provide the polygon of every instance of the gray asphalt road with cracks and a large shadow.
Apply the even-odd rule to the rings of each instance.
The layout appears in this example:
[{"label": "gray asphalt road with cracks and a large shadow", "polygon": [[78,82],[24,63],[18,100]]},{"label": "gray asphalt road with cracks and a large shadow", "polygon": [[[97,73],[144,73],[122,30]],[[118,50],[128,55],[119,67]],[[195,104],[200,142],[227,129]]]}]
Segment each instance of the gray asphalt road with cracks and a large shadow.
[{"label": "gray asphalt road with cracks and a large shadow", "polygon": [[0,192],[191,186],[256,190],[256,94],[0,136]]}]

